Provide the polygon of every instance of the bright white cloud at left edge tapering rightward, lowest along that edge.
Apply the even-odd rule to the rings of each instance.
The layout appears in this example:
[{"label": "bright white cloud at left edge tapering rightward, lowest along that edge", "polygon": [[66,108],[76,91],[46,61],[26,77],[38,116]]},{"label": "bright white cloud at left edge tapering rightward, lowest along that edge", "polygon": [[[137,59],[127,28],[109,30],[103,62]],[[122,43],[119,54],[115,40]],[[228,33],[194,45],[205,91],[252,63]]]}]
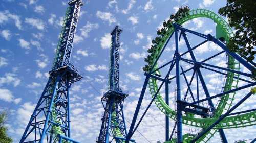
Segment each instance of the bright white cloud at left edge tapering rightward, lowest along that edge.
[{"label": "bright white cloud at left edge tapering rightward, lowest along that edge", "polygon": [[14,102],[18,104],[22,99],[15,99],[12,92],[9,89],[0,88],[0,99],[5,102]]}]

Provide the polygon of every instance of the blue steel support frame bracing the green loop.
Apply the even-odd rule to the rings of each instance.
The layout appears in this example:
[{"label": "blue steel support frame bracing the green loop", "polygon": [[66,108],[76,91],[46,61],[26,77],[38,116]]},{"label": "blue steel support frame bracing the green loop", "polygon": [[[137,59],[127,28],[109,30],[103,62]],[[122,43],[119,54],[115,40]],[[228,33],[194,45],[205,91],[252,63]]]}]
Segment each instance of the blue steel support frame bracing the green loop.
[{"label": "blue steel support frame bracing the green loop", "polygon": [[[148,109],[150,108],[151,104],[153,103],[153,101],[155,100],[157,94],[159,93],[159,90],[162,88],[162,85],[165,83],[165,86],[167,86],[170,82],[170,80],[176,78],[176,85],[177,85],[177,121],[175,124],[177,124],[177,126],[175,125],[173,131],[172,131],[172,134],[170,135],[170,138],[167,138],[167,135],[168,135],[168,132],[169,132],[169,128],[168,128],[168,120],[167,118],[165,119],[166,123],[166,129],[165,129],[165,140],[170,140],[173,136],[173,133],[174,133],[174,130],[175,128],[177,128],[177,141],[178,142],[182,142],[183,141],[183,138],[182,138],[182,110],[186,110],[187,112],[194,112],[195,114],[200,114],[200,115],[203,115],[203,116],[208,116],[208,114],[204,114],[203,112],[195,112],[194,110],[189,110],[189,108],[185,108],[186,106],[199,106],[199,103],[203,102],[203,101],[208,101],[209,105],[210,105],[210,108],[211,108],[211,111],[212,112],[215,112],[215,107],[214,107],[214,104],[212,103],[211,99],[213,98],[216,98],[216,97],[221,97],[221,96],[224,96],[225,94],[228,94],[228,93],[231,93],[231,92],[235,92],[235,91],[238,91],[238,90],[242,90],[242,89],[245,89],[245,88],[248,88],[248,87],[252,87],[254,85],[256,85],[256,83],[252,83],[248,80],[245,80],[245,79],[242,79],[240,77],[234,77],[236,79],[239,79],[239,80],[243,80],[245,82],[248,82],[249,84],[247,85],[244,85],[244,86],[241,86],[241,87],[238,87],[236,89],[231,89],[229,91],[225,91],[223,93],[219,93],[215,96],[210,96],[209,94],[209,91],[207,89],[207,86],[206,86],[206,83],[204,81],[204,78],[203,78],[203,75],[200,71],[200,68],[208,68],[206,66],[209,66],[209,67],[213,67],[213,68],[217,68],[217,69],[222,69],[222,70],[226,70],[226,71],[229,71],[229,72],[232,72],[232,73],[237,73],[237,74],[241,74],[241,75],[245,75],[247,77],[250,77],[252,74],[247,74],[247,73],[243,73],[241,71],[236,71],[236,70],[232,70],[232,69],[227,69],[227,68],[222,68],[222,67],[218,67],[218,66],[213,66],[213,65],[210,65],[210,64],[206,64],[204,62],[212,59],[212,58],[215,58],[216,56],[226,52],[227,54],[233,56],[237,61],[239,61],[240,63],[242,63],[246,68],[248,68],[250,71],[253,71],[255,69],[255,67],[253,67],[250,63],[247,63],[245,61],[244,58],[241,58],[238,54],[236,53],[231,53],[226,45],[221,42],[219,39],[216,39],[215,37],[211,36],[211,35],[204,35],[204,34],[201,34],[201,33],[198,33],[198,32],[194,32],[194,31],[191,31],[191,30],[188,30],[188,29],[184,29],[182,28],[181,26],[179,25],[175,25],[174,24],[174,27],[175,27],[175,30],[174,30],[174,33],[175,33],[175,44],[176,44],[176,50],[175,50],[175,55],[174,55],[174,58],[165,63],[164,65],[158,67],[157,69],[153,69],[153,67],[155,67],[156,63],[158,62],[158,59],[159,57],[162,55],[163,51],[164,51],[164,48],[166,47],[169,39],[173,36],[174,33],[172,33],[172,35],[170,35],[170,37],[167,39],[167,41],[165,42],[164,46],[163,46],[163,49],[161,50],[159,56],[156,58],[156,60],[154,61],[154,64],[152,65],[150,71],[148,73],[145,73],[144,75],[146,76],[145,77],[145,81],[144,81],[144,84],[143,84],[143,87],[142,87],[142,90],[141,90],[141,93],[140,93],[140,97],[139,97],[139,101],[138,101],[138,104],[136,106],[136,110],[135,110],[135,113],[134,113],[134,116],[133,116],[133,120],[132,120],[132,123],[131,123],[131,126],[130,126],[130,129],[129,129],[129,132],[127,134],[127,139],[126,139],[126,143],[129,142],[129,140],[131,139],[132,135],[134,134],[134,132],[136,131],[136,129],[138,128],[139,124],[141,123],[143,117],[145,116],[146,112],[148,111]],[[178,35],[178,31],[181,31],[181,35],[179,37]],[[199,43],[198,45],[194,46],[194,47],[191,47],[190,44],[189,44],[189,41],[186,37],[186,34],[185,32],[189,32],[189,33],[192,33],[194,35],[197,35],[199,37],[202,37],[204,39],[206,39],[205,41]],[[188,47],[188,51],[182,53],[181,55],[179,54],[179,39],[181,38],[181,36],[183,36],[183,38],[185,39],[185,42],[186,42],[186,45]],[[212,55],[210,56],[209,58],[205,59],[205,60],[202,60],[201,62],[198,62],[196,61],[196,58],[195,58],[195,55],[193,53],[193,50],[196,49],[197,47],[199,47],[200,45],[204,44],[205,42],[207,41],[214,41],[217,45],[219,45],[220,47],[222,47],[223,51],[215,54],[215,55]],[[184,58],[181,58],[181,56],[185,55],[189,53],[192,60],[187,60],[187,59],[184,59]],[[180,65],[179,65],[179,62],[180,60],[182,61],[185,61],[185,62],[188,62],[190,64],[193,64],[194,66],[187,69],[187,70],[184,70]],[[170,68],[165,76],[165,78],[161,78],[160,76],[158,75],[155,75],[154,73],[159,70],[159,69],[162,69],[163,67],[166,67],[170,64]],[[168,75],[170,74],[170,71],[172,70],[173,66],[176,65],[176,75],[171,77],[171,78],[166,78],[168,77]],[[181,69],[181,72],[180,72],[180,69]],[[193,77],[191,78],[190,82],[188,82],[187,78],[186,78],[186,73],[190,70],[194,70],[193,71]],[[211,68],[209,68],[208,70],[211,70]],[[215,69],[212,69],[212,71],[218,71],[218,70],[215,70]],[[222,72],[217,72],[219,74],[223,74],[223,75],[226,75],[225,73],[222,73]],[[186,94],[185,94],[185,98],[187,96],[187,93],[189,92],[191,94],[191,97],[193,97],[193,101],[192,103],[188,103],[188,104],[182,104],[182,100],[181,100],[181,95],[180,95],[180,76],[183,75],[185,81],[186,81],[186,85],[188,86],[188,89],[186,91]],[[193,95],[193,93],[191,93],[191,89],[190,89],[190,85],[191,85],[191,82],[193,81],[193,78],[194,76],[196,75],[196,79],[197,79],[197,101]],[[160,84],[160,86],[158,87],[157,91],[155,92],[155,94],[152,94],[152,100],[150,102],[150,104],[148,104],[147,108],[145,109],[145,111],[143,112],[141,118],[139,119],[137,125],[135,125],[136,123],[136,120],[137,120],[137,117],[138,117],[138,113],[139,113],[139,110],[140,110],[140,107],[141,107],[141,103],[143,101],[143,98],[144,98],[144,93],[145,93],[145,90],[146,90],[146,87],[147,87],[147,84],[149,82],[150,79],[156,79],[156,80],[159,80],[161,81],[162,83]],[[206,98],[205,99],[199,99],[199,83],[198,83],[198,80],[201,81],[201,84],[202,84],[202,87],[204,89],[204,92],[205,92],[205,95],[206,95]],[[168,87],[165,87],[165,92],[166,92],[166,98],[168,98]],[[249,96],[251,95],[251,93],[249,93],[245,98],[243,98],[238,104],[236,104],[234,107],[232,107],[231,109],[234,110],[237,106],[239,106],[246,98],[248,98]],[[166,103],[168,103],[167,99],[166,99]],[[230,112],[232,110],[229,110],[227,114],[222,115],[220,118],[225,118],[226,116],[230,116],[230,115],[235,115],[235,114],[240,114],[240,113],[246,113],[246,112],[250,112],[250,111],[254,111],[255,109],[252,109],[252,110],[248,110],[248,111],[242,111],[242,112],[237,112],[237,113],[233,113],[233,114],[230,114]],[[220,122],[222,119],[218,119],[217,122]],[[215,123],[216,125],[218,123]],[[215,125],[212,125],[212,126],[215,126]],[[199,139],[200,137],[202,137],[205,133],[207,133],[211,128],[207,128],[207,129],[204,129],[200,132],[200,135],[196,136],[196,139]],[[221,139],[223,142],[227,142],[226,140],[226,137],[225,137],[225,134],[223,132],[222,129],[219,129],[219,133],[220,133],[220,136],[221,136]],[[195,140],[196,140],[195,139]]]}]

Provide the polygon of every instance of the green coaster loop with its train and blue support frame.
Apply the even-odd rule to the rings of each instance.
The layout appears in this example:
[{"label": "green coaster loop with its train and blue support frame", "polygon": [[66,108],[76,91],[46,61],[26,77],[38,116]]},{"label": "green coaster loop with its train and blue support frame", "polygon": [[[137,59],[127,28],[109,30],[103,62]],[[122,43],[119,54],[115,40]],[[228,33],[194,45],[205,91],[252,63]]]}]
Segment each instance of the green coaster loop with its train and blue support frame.
[{"label": "green coaster loop with its train and blue support frame", "polygon": [[[159,37],[156,37],[155,40],[152,40],[153,45],[151,46],[151,49],[148,49],[148,53],[151,53],[151,55],[148,55],[148,57],[145,59],[145,61],[148,62],[148,65],[143,68],[146,77],[133,116],[130,130],[127,134],[126,142],[129,142],[129,139],[138,128],[143,117],[145,116],[146,112],[148,111],[153,102],[155,102],[156,106],[161,110],[161,112],[166,115],[166,143],[207,142],[211,139],[212,136],[214,136],[216,132],[219,132],[222,142],[227,142],[223,129],[240,128],[246,126],[253,126],[256,124],[256,109],[231,113],[234,109],[239,107],[247,98],[249,98],[252,94],[256,93],[256,88],[253,87],[256,85],[256,82],[248,80],[251,77],[255,77],[256,64],[253,61],[247,62],[239,54],[229,51],[226,43],[229,42],[229,38],[232,37],[233,33],[232,29],[228,26],[228,23],[224,19],[219,17],[214,12],[206,9],[189,10],[188,7],[185,8],[180,8],[176,15],[171,15],[167,22],[164,21],[163,28],[161,30],[158,30],[157,32]],[[186,21],[198,17],[209,18],[217,24],[216,37],[210,34],[205,35],[182,27],[182,24]],[[187,33],[194,35],[195,37],[201,37],[202,39],[204,39],[204,41],[192,47],[188,41]],[[172,36],[175,36],[174,57],[170,59],[170,61],[158,67],[158,60],[163,55],[165,47]],[[187,46],[187,50],[185,52],[180,51],[181,49],[179,46],[179,41],[181,37],[184,38],[185,45]],[[200,45],[206,42],[213,42],[214,44],[218,45],[221,48],[221,52],[218,52],[217,54],[210,57],[205,57],[203,60],[198,60],[196,57],[197,55],[194,54],[195,49],[197,49]],[[209,60],[214,59],[222,53],[226,53],[227,55],[226,67],[216,66],[207,63],[209,62]],[[191,59],[185,58],[186,56],[184,55],[186,54],[189,54],[190,56],[188,57],[191,57]],[[185,70],[184,63],[190,65],[190,68]],[[247,68],[250,73],[244,73],[243,71],[240,71],[241,65],[243,65],[244,68]],[[161,75],[160,70],[164,68],[165,75],[162,78],[163,75]],[[202,70],[208,70],[216,74],[224,75],[226,77],[226,80],[224,81],[223,91],[221,91],[221,93],[215,94],[214,96],[211,95],[212,93],[209,92],[208,84],[206,83],[205,77],[202,74]],[[187,78],[187,74],[189,73],[189,71],[191,71],[190,73],[193,73],[190,75],[190,82],[188,82]],[[171,72],[172,76],[170,74]],[[191,83],[194,77],[196,77],[197,79],[196,97],[194,97],[194,94],[191,91],[191,89],[193,88],[191,86]],[[183,79],[183,83],[181,83],[181,79]],[[239,81],[243,81],[245,82],[245,84],[238,87]],[[201,82],[201,85],[199,84],[199,82]],[[177,87],[177,92],[172,95],[175,96],[177,99],[177,110],[174,110],[168,106],[170,83],[174,83],[175,87]],[[160,89],[162,88],[163,84],[165,84],[165,102],[163,97],[160,95]],[[181,95],[181,84],[187,86],[186,92],[184,93],[184,99],[182,99]],[[137,121],[137,125],[135,126],[147,85],[149,87],[152,100],[150,104],[148,104],[140,120]],[[206,96],[206,98],[204,99],[199,99],[199,86],[201,86]],[[247,93],[244,92],[243,89],[247,89]],[[245,95],[241,100],[239,100],[236,104],[232,106],[232,103],[236,98],[236,92],[241,90],[243,92],[239,93]],[[188,93],[190,93],[191,99],[193,99],[192,102],[186,100]],[[216,105],[214,105],[212,99],[218,97],[220,98],[220,100]],[[203,102],[207,102],[209,106],[202,106]],[[175,121],[175,126],[170,136],[168,134],[168,118],[171,118]],[[183,134],[183,124],[198,127],[201,130],[196,134]],[[177,132],[177,137],[174,136],[175,130]],[[253,141],[255,140],[256,139],[254,139]]]}]

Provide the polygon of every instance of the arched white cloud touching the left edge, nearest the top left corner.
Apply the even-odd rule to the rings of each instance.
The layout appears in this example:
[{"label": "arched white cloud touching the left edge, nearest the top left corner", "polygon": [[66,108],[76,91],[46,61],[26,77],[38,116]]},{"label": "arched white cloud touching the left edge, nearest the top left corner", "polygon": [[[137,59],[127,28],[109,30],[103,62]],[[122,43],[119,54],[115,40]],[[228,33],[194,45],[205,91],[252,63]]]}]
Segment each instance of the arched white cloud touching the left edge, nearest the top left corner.
[{"label": "arched white cloud touching the left edge, nearest the top left corner", "polygon": [[9,21],[9,19],[12,19],[15,21],[15,26],[18,29],[22,29],[22,22],[20,21],[20,18],[18,15],[12,14],[8,10],[5,10],[4,12],[0,12],[0,24]]}]

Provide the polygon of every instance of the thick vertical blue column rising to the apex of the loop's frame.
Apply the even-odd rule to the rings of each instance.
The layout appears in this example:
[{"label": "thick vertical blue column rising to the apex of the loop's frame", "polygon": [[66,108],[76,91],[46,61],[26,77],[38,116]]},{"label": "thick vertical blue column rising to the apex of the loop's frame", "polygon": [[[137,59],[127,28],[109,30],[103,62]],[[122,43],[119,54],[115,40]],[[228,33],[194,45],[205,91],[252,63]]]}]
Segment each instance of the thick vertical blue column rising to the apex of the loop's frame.
[{"label": "thick vertical blue column rising to the apex of the loop's frame", "polygon": [[[177,101],[181,101],[180,94],[180,55],[179,55],[179,39],[178,29],[175,29],[175,57],[176,57],[176,84],[177,84]],[[177,142],[182,143],[182,111],[180,103],[177,103]]]}]

